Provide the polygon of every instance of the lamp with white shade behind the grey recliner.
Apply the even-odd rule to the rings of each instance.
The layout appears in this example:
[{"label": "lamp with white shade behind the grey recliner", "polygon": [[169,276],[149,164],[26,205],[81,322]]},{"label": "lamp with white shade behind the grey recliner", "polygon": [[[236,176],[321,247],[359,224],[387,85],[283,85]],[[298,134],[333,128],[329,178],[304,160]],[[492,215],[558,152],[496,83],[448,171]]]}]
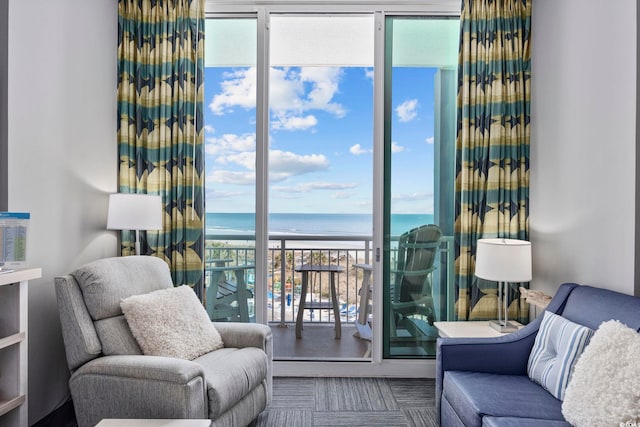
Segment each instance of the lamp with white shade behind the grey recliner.
[{"label": "lamp with white shade behind the grey recliner", "polygon": [[107,230],[135,230],[136,255],[140,255],[140,230],[162,229],[162,198],[150,194],[109,195]]}]

